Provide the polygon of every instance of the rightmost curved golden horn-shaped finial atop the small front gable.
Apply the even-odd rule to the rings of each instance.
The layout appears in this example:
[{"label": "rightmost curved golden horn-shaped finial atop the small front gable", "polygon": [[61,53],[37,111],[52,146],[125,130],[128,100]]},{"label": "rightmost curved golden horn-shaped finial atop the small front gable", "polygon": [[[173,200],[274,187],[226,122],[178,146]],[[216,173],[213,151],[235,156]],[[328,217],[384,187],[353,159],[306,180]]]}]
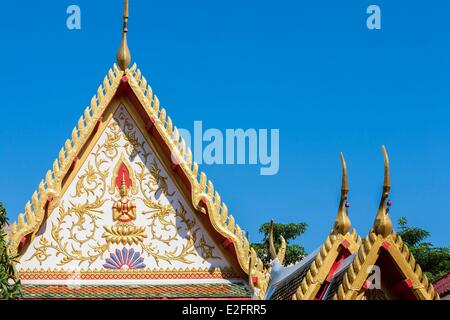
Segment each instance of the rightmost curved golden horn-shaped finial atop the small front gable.
[{"label": "rightmost curved golden horn-shaped finial atop the small front gable", "polygon": [[382,146],[384,155],[384,183],[383,194],[381,195],[380,206],[378,208],[377,216],[373,223],[373,231],[377,235],[387,237],[392,232],[392,221],[388,215],[389,206],[391,202],[389,200],[389,191],[391,190],[391,178],[389,173],[389,158],[386,152],[386,148]]}]

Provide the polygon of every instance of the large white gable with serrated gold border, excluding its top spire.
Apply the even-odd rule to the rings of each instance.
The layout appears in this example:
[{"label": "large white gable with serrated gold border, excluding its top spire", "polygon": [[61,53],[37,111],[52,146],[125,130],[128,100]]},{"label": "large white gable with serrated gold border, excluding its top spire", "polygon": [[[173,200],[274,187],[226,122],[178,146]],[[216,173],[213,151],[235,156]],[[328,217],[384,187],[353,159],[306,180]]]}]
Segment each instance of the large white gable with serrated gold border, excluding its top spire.
[{"label": "large white gable with serrated gold border, excluding its top spire", "polygon": [[12,226],[21,278],[264,281],[191,155],[136,66],[110,70]]}]

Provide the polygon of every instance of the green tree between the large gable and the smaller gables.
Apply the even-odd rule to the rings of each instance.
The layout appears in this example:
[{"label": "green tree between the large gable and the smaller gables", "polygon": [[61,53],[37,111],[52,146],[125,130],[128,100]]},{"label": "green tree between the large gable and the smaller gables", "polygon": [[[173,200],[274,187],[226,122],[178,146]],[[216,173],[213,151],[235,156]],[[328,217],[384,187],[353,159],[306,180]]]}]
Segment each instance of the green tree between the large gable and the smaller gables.
[{"label": "green tree between the large gable and the smaller gables", "polygon": [[[290,242],[304,234],[307,227],[308,225],[303,222],[289,224],[274,223],[273,239],[275,244],[275,251],[278,252],[280,246],[280,236],[283,236],[283,238],[286,240],[286,258],[284,259],[285,266],[300,261],[301,259],[303,259],[303,257],[306,256],[304,247],[298,244],[290,244]],[[264,234],[264,239],[261,243],[252,244],[252,247],[255,249],[256,253],[261,258],[266,267],[269,265],[271,260],[269,254],[269,229],[270,222],[261,225],[261,227],[259,228],[259,232]]]}]

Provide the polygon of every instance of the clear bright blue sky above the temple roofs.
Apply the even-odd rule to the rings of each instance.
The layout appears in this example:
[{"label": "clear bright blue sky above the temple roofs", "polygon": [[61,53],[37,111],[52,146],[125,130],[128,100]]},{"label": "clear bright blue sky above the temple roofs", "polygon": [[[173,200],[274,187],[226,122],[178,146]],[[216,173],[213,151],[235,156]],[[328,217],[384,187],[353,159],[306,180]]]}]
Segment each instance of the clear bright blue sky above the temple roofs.
[{"label": "clear bright blue sky above the temple roofs", "polygon": [[[250,239],[274,217],[321,245],[336,214],[343,151],[350,218],[364,236],[392,169],[406,215],[450,245],[450,2],[130,0],[129,43],[175,124],[279,128],[280,171],[204,166]],[[66,28],[66,8],[82,29]],[[378,4],[382,30],[366,28]],[[2,4],[0,201],[15,220],[115,62],[122,0]]]}]

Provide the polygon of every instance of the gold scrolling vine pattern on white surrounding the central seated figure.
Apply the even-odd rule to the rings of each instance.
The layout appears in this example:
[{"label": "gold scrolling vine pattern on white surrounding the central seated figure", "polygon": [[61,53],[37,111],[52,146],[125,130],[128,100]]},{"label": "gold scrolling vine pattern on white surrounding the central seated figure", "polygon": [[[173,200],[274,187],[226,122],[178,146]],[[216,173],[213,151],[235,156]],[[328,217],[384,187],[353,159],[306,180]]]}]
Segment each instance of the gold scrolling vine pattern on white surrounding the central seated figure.
[{"label": "gold scrolling vine pattern on white surrounding the central seated figure", "polygon": [[[169,191],[167,177],[162,175],[151,150],[145,140],[139,139],[138,132],[125,108],[120,106],[106,128],[104,141],[94,149],[86,168],[80,172],[75,192],[70,195],[71,201],[61,201],[51,236],[41,236],[28,260],[35,258],[42,265],[52,256],[53,250],[60,258],[59,266],[72,262],[90,266],[97,259],[104,258],[112,244],[118,243],[140,245],[158,266],[162,261],[191,265],[195,258],[198,261],[198,257],[221,259],[214,254],[215,248],[208,244],[205,236],[199,236],[200,227],[188,217],[183,204],[172,200],[175,191]],[[111,172],[111,163],[115,161],[117,165]],[[114,180],[121,163],[127,166],[133,182],[131,193],[138,195],[135,200],[145,208],[138,213],[145,216],[145,225],[132,226],[133,230],[139,231],[137,233],[124,233],[127,228],[119,230],[114,225],[104,225],[106,216],[111,215],[104,208],[112,208],[114,202],[109,195],[117,196],[118,193]],[[100,229],[107,231],[103,238],[98,235]]]}]

